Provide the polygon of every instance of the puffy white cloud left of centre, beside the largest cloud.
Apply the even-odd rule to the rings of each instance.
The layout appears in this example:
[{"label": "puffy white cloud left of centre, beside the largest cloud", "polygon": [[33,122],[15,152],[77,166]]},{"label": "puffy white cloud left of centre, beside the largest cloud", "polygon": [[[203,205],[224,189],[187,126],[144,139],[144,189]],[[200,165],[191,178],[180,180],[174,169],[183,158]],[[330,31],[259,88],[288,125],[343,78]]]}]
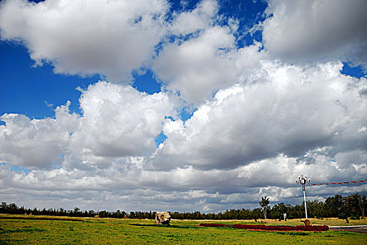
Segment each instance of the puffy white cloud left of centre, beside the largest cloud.
[{"label": "puffy white cloud left of centre, beside the largest cloud", "polygon": [[67,162],[109,165],[114,159],[148,155],[165,116],[175,116],[163,92],[146,94],[130,86],[99,82],[83,91],[83,116],[71,137]]}]

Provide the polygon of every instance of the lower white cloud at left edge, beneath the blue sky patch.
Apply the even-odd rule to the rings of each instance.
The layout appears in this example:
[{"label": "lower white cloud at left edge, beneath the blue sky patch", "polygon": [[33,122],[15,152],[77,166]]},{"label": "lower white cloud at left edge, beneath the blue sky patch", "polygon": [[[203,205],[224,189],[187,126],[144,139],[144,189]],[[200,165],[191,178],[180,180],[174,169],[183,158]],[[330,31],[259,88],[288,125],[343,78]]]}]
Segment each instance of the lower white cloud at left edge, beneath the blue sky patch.
[{"label": "lower white cloud at left edge, beneath the blue sky patch", "polygon": [[20,114],[0,117],[0,160],[27,167],[60,165],[70,134],[78,128],[78,115],[69,113],[70,102],[55,109],[55,119],[29,119]]}]

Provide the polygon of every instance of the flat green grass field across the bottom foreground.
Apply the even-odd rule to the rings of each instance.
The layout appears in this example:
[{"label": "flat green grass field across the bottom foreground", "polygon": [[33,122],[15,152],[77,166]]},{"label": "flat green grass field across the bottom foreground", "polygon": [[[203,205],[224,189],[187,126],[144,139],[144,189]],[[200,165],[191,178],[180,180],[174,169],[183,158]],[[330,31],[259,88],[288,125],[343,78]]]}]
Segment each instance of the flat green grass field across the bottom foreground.
[{"label": "flat green grass field across the bottom foreground", "polygon": [[[347,231],[256,232],[197,227],[200,223],[214,221],[171,221],[171,226],[166,227],[155,225],[153,220],[81,219],[83,221],[0,219],[0,244],[367,244],[366,234]],[[339,221],[322,222],[336,225]],[[363,225],[366,221],[356,221],[355,224]],[[215,223],[254,224],[254,221]],[[299,220],[292,223],[301,224]],[[312,220],[312,223],[316,221]],[[284,223],[266,221],[265,224]]]}]

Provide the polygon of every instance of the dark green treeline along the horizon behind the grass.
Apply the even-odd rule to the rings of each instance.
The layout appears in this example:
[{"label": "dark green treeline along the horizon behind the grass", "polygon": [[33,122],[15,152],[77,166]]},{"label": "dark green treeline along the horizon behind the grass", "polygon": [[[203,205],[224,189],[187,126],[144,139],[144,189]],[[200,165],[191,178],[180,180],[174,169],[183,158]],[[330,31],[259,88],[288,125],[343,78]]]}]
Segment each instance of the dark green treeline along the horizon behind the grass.
[{"label": "dark green treeline along the horizon behind the grass", "polygon": [[[305,218],[305,206],[304,204],[292,206],[291,204],[278,203],[270,208],[269,202],[266,197],[262,197],[259,206],[261,208],[256,209],[230,209],[218,214],[209,213],[203,214],[200,211],[195,212],[170,212],[171,218],[174,219],[212,219],[212,220],[250,220],[264,218],[266,213],[267,218],[283,220],[283,214],[287,214],[287,218]],[[307,214],[309,218],[352,218],[359,219],[360,216],[365,216],[365,209],[367,206],[366,196],[359,195],[358,193],[342,197],[341,195],[335,195],[333,197],[326,198],[325,202],[318,200],[307,201]],[[266,211],[266,212],[265,212]],[[100,218],[148,218],[154,219],[155,212],[142,212],[142,211],[81,211],[78,207],[74,210],[65,209],[27,209],[25,207],[18,207],[15,203],[6,204],[1,202],[0,214],[27,214],[27,215],[44,215],[44,216],[70,216],[70,217],[100,217]]]}]

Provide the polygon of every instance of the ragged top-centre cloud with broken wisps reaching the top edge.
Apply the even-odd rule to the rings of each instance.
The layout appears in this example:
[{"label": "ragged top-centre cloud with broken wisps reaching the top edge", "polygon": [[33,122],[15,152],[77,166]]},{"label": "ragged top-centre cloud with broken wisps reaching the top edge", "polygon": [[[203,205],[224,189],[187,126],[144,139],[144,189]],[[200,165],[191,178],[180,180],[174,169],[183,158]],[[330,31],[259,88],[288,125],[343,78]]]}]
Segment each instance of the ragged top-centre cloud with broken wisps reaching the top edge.
[{"label": "ragged top-centre cloud with broken wisps reaching the top edge", "polygon": [[216,1],[202,1],[189,12],[176,13],[168,32],[176,39],[163,45],[153,60],[153,71],[165,88],[195,106],[242,80],[266,56],[258,42],[237,48],[236,24],[218,10]]}]

